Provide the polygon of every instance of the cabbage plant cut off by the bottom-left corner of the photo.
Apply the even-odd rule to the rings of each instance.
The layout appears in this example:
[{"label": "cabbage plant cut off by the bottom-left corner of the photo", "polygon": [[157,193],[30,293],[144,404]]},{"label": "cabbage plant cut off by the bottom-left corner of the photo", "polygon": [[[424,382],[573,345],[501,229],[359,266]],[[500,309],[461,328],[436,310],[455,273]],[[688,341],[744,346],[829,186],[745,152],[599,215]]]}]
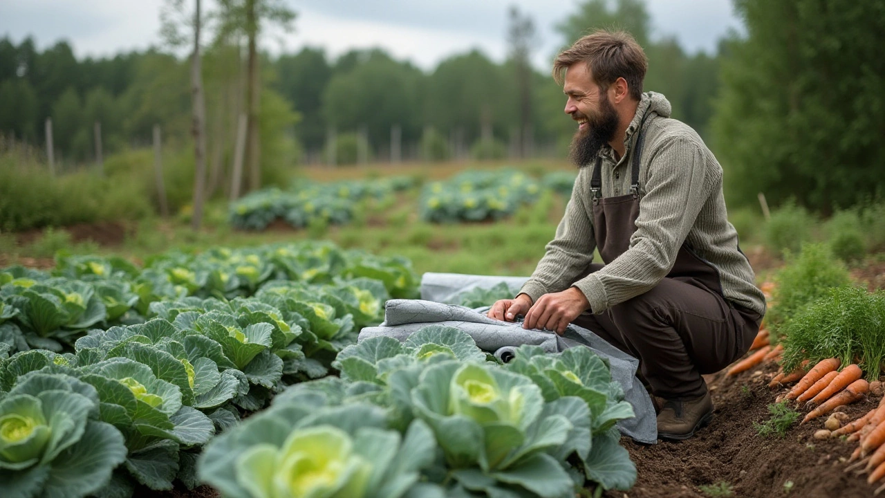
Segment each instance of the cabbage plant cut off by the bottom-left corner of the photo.
[{"label": "cabbage plant cut off by the bottom-left corner of the photo", "polygon": [[76,378],[23,377],[0,398],[0,495],[79,498],[105,486],[127,448],[98,411],[96,390]]}]

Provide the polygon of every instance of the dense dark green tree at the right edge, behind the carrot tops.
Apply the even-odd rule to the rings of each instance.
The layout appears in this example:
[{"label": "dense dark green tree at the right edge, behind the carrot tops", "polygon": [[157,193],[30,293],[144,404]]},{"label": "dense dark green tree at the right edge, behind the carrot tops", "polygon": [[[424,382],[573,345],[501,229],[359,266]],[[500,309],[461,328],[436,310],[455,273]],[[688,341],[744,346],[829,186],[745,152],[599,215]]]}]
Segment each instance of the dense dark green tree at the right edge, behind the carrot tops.
[{"label": "dense dark green tree at the right edge, behind the carrot tops", "polygon": [[828,212],[885,191],[885,4],[738,0],[712,121],[727,193]]}]

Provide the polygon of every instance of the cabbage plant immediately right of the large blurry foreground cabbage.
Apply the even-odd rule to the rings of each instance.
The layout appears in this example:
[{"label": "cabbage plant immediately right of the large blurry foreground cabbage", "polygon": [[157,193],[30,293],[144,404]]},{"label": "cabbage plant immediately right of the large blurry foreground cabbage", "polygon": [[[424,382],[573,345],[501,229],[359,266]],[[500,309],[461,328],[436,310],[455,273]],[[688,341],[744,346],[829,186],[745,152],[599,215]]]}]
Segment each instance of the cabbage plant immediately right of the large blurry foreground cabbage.
[{"label": "cabbage plant immediately right of the large blurry foreground cabbage", "polygon": [[529,377],[491,363],[442,362],[420,375],[412,403],[460,486],[487,494],[573,495],[572,479],[551,455],[573,424],[545,411],[541,389]]}]

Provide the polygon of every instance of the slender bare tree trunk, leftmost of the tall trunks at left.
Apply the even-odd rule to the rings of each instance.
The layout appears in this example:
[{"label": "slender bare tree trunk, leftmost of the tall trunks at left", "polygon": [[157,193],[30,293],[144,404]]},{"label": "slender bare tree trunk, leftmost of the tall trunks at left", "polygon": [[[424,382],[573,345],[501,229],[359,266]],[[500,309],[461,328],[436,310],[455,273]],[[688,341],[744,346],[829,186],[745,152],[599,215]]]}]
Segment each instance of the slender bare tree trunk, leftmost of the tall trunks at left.
[{"label": "slender bare tree trunk, leftmost of the tall trunks at left", "polygon": [[203,201],[206,183],[206,103],[203,97],[203,76],[200,71],[200,0],[196,0],[194,15],[194,53],[190,58],[190,92],[193,103],[194,160],[194,212],[191,227],[200,230],[203,222]]}]

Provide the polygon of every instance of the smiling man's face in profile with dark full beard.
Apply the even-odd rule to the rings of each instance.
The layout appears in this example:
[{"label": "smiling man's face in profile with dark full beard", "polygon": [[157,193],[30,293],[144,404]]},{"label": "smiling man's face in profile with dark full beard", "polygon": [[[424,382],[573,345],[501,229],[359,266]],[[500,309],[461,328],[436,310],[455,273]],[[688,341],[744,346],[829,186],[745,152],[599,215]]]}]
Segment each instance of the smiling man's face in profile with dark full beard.
[{"label": "smiling man's face in profile with dark full beard", "polygon": [[618,130],[618,112],[609,102],[607,92],[599,89],[588,64],[574,64],[566,71],[566,114],[578,123],[569,157],[577,167],[589,165],[603,144]]}]

